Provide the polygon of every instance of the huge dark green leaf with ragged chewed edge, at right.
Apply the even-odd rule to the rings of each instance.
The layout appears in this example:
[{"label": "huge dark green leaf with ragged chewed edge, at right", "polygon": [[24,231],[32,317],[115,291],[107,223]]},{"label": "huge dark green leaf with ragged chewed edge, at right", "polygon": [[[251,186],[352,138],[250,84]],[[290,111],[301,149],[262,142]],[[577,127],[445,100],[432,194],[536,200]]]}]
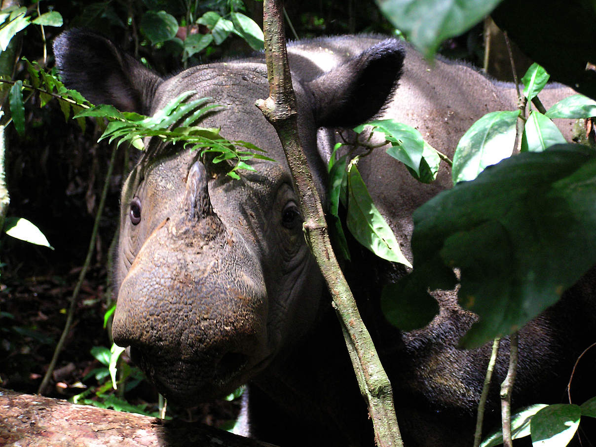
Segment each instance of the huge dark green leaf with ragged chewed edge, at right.
[{"label": "huge dark green leaf with ragged chewed edge, at right", "polygon": [[460,303],[479,315],[462,345],[506,336],[596,263],[595,202],[588,148],[556,145],[502,160],[415,211],[415,268],[403,281],[421,284],[420,293],[449,290],[459,268]]}]

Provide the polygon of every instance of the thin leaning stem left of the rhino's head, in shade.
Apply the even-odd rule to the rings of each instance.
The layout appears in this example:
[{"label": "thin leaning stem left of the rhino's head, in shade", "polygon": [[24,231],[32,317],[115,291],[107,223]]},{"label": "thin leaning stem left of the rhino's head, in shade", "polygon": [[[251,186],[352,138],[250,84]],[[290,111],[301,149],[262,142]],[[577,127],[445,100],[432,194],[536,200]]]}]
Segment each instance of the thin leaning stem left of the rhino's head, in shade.
[{"label": "thin leaning stem left of the rhino's head, in shade", "polygon": [[54,368],[56,367],[56,363],[58,361],[58,356],[60,356],[60,352],[62,351],[62,349],[64,347],[64,342],[66,342],[66,337],[68,336],[68,334],[70,332],[70,327],[72,326],[73,319],[75,318],[77,297],[79,296],[80,287],[83,284],[83,280],[85,279],[85,275],[87,274],[89,265],[91,264],[91,256],[94,252],[95,240],[97,239],[97,233],[100,228],[101,214],[103,213],[103,210],[104,210],[105,197],[107,196],[108,188],[110,186],[110,178],[111,178],[112,171],[114,168],[114,160],[116,159],[116,152],[117,152],[117,145],[116,145],[116,143],[114,143],[113,148],[112,148],[111,157],[110,157],[110,164],[108,165],[108,171],[105,174],[104,188],[101,191],[100,204],[97,208],[97,214],[95,215],[95,222],[93,224],[93,231],[91,232],[91,239],[89,240],[89,248],[87,250],[87,257],[85,258],[85,263],[83,263],[83,268],[81,269],[81,271],[79,273],[79,280],[77,281],[77,283],[75,285],[75,290],[73,290],[73,294],[70,297],[69,312],[66,316],[66,323],[64,324],[64,330],[62,331],[60,340],[58,340],[58,343],[56,344],[56,347],[54,349],[54,355],[52,356],[52,360],[49,362],[48,371],[46,371],[44,378],[41,381],[41,384],[39,385],[38,394],[44,394],[45,389],[48,386],[49,378],[52,377],[52,373],[54,372]]}]

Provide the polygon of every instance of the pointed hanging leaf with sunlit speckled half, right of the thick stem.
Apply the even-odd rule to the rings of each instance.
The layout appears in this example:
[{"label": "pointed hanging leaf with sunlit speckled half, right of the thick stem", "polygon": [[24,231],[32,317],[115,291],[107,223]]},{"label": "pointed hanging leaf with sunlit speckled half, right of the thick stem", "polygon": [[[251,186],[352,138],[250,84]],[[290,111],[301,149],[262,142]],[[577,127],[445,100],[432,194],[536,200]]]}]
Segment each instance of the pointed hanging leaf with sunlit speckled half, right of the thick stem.
[{"label": "pointed hanging leaf with sunlit speckled half, right of the thick stem", "polygon": [[387,222],[374,206],[373,199],[352,164],[348,172],[347,228],[359,243],[377,256],[411,267]]}]

